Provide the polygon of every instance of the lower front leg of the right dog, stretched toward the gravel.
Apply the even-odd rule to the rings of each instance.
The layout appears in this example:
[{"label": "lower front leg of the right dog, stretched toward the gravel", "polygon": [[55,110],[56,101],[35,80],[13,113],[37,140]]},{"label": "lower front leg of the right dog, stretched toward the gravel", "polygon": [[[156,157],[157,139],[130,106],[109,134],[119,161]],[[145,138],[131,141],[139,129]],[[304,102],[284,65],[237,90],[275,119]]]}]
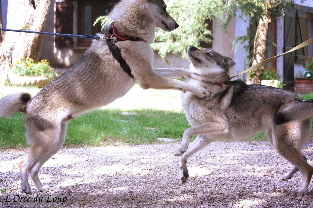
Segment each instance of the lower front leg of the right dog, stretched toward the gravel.
[{"label": "lower front leg of the right dog, stretched toward the gravel", "polygon": [[206,139],[203,135],[198,135],[196,140],[193,141],[188,147],[187,151],[179,157],[179,181],[181,184],[185,183],[189,177],[187,159],[203,147],[207,146],[209,143],[211,143],[210,139]]}]

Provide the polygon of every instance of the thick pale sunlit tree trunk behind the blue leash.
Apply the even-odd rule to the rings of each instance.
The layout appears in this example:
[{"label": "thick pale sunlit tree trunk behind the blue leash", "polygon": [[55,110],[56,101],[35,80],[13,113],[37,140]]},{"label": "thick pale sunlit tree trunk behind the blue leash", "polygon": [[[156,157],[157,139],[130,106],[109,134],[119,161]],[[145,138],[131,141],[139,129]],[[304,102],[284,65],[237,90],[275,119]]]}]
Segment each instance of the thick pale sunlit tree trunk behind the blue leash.
[{"label": "thick pale sunlit tree trunk behind the blue leash", "polygon": [[[8,29],[43,31],[52,0],[8,1]],[[33,33],[6,32],[0,46],[0,78],[6,78],[10,65],[21,57],[38,61],[44,36]]]}]

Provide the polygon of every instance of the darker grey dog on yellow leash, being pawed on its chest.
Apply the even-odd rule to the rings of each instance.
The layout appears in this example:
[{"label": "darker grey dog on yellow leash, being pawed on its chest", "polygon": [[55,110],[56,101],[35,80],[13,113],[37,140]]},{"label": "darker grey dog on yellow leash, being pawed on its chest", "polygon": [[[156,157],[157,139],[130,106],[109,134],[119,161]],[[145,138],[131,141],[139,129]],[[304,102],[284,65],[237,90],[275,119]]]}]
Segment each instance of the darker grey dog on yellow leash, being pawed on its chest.
[{"label": "darker grey dog on yellow leash, being pawed on its chest", "polygon": [[[292,116],[300,107],[302,111],[312,103],[305,102],[298,95],[275,87],[246,85],[241,80],[227,81],[229,69],[235,63],[215,51],[202,51],[196,47],[188,50],[191,64],[189,84],[208,87],[211,98],[198,98],[190,93],[182,95],[183,108],[192,126],[183,135],[182,143],[176,151],[180,156],[180,181],[188,178],[187,159],[212,141],[233,141],[266,131],[271,144],[293,168],[280,177],[286,181],[301,171],[303,183],[298,191],[290,195],[304,195],[310,183],[313,168],[306,162],[301,150],[307,144],[311,133],[312,113],[303,118]],[[311,108],[307,109],[312,111]],[[298,112],[298,111],[297,111]],[[283,123],[277,125],[275,120]],[[295,121],[290,121],[293,119]],[[198,135],[188,147],[189,139]]]}]

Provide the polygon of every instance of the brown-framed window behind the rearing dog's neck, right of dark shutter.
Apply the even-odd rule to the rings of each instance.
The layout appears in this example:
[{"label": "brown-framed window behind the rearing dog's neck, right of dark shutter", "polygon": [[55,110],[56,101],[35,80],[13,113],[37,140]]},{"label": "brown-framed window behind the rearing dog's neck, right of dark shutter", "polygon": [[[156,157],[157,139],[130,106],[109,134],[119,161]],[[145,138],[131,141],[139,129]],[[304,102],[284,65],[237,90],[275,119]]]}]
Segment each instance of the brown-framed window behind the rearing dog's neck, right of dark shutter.
[{"label": "brown-framed window behind the rearing dog's neck, right of dark shutter", "polygon": [[[119,0],[78,0],[78,34],[80,35],[95,35],[101,31],[100,23],[93,26],[95,20],[103,15],[107,15],[114,4]],[[91,40],[79,38],[77,47],[89,47]]]}]

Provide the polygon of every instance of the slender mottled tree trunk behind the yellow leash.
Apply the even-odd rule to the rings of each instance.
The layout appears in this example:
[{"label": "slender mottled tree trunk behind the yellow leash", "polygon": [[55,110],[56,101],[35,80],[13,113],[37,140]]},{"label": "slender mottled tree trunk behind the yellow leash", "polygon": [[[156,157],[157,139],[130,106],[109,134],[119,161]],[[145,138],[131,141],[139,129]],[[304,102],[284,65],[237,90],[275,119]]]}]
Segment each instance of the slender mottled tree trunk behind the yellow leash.
[{"label": "slender mottled tree trunk behind the yellow leash", "polygon": [[[259,25],[256,30],[253,46],[252,65],[255,65],[266,59],[266,41],[269,32],[269,24],[271,23],[271,12],[262,14]],[[264,67],[255,69],[248,74],[247,84],[261,84]]]}]

